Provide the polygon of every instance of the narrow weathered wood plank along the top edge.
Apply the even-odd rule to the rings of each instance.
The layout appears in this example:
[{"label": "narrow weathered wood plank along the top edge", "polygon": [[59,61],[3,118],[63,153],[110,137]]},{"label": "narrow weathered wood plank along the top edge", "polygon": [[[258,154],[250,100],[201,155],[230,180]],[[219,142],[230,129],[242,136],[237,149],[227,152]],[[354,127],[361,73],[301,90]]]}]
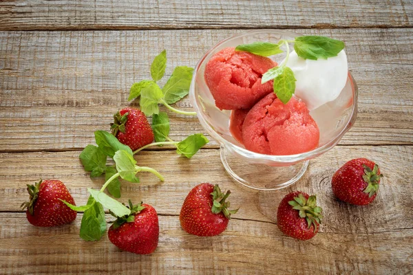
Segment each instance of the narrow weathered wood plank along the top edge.
[{"label": "narrow weathered wood plank along the top edge", "polygon": [[412,27],[409,0],[0,2],[0,30]]}]

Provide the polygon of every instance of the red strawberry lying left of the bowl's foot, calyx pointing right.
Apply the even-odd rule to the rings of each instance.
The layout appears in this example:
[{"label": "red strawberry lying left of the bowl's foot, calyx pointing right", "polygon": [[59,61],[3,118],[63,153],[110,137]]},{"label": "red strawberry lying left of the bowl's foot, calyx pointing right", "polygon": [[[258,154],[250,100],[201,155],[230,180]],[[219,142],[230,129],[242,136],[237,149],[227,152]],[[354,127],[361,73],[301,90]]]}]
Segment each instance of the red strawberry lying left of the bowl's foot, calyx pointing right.
[{"label": "red strawberry lying left of the bowl's foot, calyx pointing right", "polygon": [[182,228],[197,236],[215,236],[226,229],[231,214],[229,201],[225,199],[231,192],[222,194],[220,187],[212,184],[199,184],[189,192],[182,205],[179,219]]}]

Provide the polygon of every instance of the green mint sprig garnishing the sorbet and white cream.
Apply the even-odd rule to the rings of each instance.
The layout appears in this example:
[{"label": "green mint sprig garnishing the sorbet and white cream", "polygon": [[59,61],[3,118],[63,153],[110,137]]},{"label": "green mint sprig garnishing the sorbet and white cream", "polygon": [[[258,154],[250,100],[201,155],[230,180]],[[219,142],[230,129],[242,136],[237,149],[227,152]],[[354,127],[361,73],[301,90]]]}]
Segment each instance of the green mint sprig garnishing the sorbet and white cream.
[{"label": "green mint sprig garnishing the sorbet and white cream", "polygon": [[329,58],[337,56],[344,48],[344,43],[339,40],[330,39],[326,36],[297,36],[293,41],[280,40],[277,44],[269,42],[255,42],[251,44],[238,45],[235,50],[251,52],[259,56],[271,56],[282,53],[280,47],[286,46],[286,58],[277,67],[268,69],[262,75],[261,83],[264,84],[269,80],[274,80],[274,93],[277,98],[286,104],[295,92],[295,79],[292,69],[286,66],[288,56],[290,55],[290,46],[288,43],[294,43],[294,50],[297,55],[304,59],[317,60],[319,58]]}]

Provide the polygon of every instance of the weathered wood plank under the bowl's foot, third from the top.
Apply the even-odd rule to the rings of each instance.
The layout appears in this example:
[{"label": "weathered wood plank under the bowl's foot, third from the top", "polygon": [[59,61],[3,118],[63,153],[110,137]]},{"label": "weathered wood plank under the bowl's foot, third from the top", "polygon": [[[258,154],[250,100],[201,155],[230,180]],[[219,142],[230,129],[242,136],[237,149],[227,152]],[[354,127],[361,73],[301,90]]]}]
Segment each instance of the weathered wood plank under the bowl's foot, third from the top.
[{"label": "weathered wood plank under the bowl's foot, third from the top", "polygon": [[[19,211],[28,199],[26,184],[39,178],[61,179],[76,203],[89,197],[87,187],[100,188],[103,178],[90,179],[78,160],[78,151],[58,153],[0,154],[0,211]],[[373,159],[385,175],[377,199],[370,206],[350,206],[335,199],[331,190],[332,174],[354,157]],[[123,181],[120,201],[145,201],[161,214],[178,215],[189,190],[201,182],[220,184],[231,189],[231,205],[241,206],[238,219],[276,222],[279,201],[288,192],[302,190],[317,194],[324,208],[323,232],[374,233],[396,228],[413,228],[413,146],[336,146],[310,162],[308,171],[297,184],[275,192],[252,192],[240,187],[226,174],[218,150],[202,150],[192,159],[173,151],[142,152],[138,165],[157,169],[165,182],[150,173],[140,173],[141,184]],[[259,180],[259,179],[257,179]]]}]

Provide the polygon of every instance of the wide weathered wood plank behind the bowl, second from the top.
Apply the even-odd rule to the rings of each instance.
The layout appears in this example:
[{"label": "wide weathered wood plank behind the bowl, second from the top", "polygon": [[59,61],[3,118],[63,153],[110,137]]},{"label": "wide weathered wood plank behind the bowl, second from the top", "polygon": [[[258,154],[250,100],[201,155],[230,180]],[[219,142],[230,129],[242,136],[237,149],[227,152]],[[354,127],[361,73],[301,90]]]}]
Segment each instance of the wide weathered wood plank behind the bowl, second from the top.
[{"label": "wide weathered wood plank behind the bowl, second from the top", "polygon": [[[295,31],[346,42],[359,115],[341,144],[413,144],[412,28]],[[215,43],[240,32],[0,32],[0,151],[84,148],[129,104],[131,84],[150,77],[158,52],[168,52],[166,79],[173,67],[195,66]],[[187,98],[177,105],[191,109]],[[173,140],[204,132],[195,117],[170,116]]]}]

